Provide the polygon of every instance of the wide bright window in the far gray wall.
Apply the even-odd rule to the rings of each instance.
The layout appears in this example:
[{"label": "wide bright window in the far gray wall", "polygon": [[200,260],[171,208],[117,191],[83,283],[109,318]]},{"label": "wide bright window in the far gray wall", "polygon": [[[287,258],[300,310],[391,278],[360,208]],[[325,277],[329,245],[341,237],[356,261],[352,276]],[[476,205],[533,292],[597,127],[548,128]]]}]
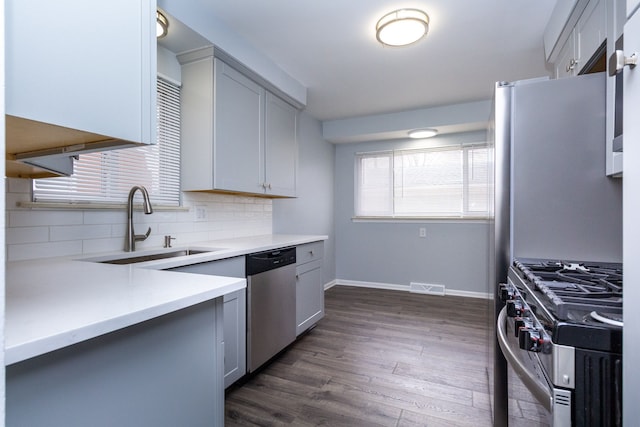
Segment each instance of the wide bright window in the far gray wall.
[{"label": "wide bright window in the far gray wall", "polygon": [[359,153],[356,217],[487,217],[490,167],[485,144]]}]

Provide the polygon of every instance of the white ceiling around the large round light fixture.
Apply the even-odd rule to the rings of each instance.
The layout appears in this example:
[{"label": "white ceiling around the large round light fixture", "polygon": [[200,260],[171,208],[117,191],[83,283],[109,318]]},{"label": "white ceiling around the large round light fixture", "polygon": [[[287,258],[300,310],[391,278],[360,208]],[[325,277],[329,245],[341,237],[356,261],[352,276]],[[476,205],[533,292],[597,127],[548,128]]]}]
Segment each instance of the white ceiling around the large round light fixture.
[{"label": "white ceiling around the large round light fixture", "polygon": [[[542,35],[556,0],[207,0],[238,36],[307,87],[319,120],[491,98],[496,81],[548,75]],[[398,8],[431,18],[404,48],[376,41]]]}]

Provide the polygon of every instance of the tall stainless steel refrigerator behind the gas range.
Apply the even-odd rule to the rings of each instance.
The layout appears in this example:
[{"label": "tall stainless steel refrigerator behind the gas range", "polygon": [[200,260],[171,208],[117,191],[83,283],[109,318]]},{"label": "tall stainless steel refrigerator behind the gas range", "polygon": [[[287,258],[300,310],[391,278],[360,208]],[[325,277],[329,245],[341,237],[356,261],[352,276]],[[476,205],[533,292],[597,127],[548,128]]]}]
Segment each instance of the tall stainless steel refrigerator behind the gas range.
[{"label": "tall stainless steel refrigerator behind the gas range", "polygon": [[[494,327],[502,308],[497,285],[514,258],[622,262],[622,180],[605,175],[605,79],[597,73],[496,84],[489,129]],[[507,364],[497,344],[490,351],[494,425],[505,426]]]}]

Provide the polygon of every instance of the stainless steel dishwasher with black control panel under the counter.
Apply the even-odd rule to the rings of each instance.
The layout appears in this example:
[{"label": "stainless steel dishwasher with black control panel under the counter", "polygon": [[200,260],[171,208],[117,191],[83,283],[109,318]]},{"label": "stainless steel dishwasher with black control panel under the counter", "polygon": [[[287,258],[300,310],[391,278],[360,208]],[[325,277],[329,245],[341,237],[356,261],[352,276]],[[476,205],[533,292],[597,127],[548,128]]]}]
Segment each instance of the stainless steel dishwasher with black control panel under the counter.
[{"label": "stainless steel dishwasher with black control panel under the counter", "polygon": [[296,248],[246,256],[247,372],[296,339]]}]

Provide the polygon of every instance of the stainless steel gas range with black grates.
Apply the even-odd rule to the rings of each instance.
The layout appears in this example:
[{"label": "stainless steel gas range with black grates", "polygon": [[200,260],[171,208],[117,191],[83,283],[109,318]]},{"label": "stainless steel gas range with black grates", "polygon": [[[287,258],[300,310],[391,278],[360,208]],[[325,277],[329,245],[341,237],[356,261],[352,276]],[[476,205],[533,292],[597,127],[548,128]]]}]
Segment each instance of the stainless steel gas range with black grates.
[{"label": "stainless steel gas range with black grates", "polygon": [[516,259],[498,342],[553,426],[622,425],[622,265]]}]

